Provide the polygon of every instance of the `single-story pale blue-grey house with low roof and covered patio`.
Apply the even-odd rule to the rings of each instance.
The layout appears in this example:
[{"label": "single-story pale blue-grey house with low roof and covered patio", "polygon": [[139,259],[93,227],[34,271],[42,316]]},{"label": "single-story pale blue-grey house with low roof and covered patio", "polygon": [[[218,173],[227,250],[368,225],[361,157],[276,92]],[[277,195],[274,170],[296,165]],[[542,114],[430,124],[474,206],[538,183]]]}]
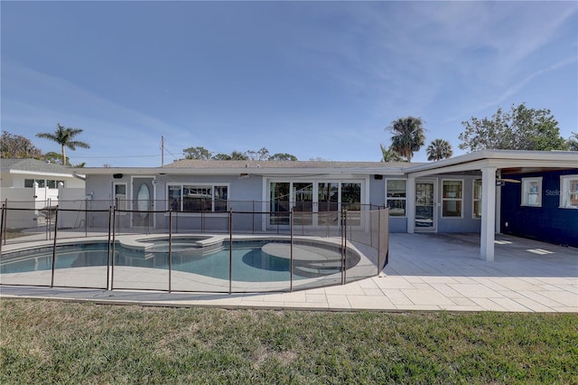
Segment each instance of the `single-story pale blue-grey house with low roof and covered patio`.
[{"label": "single-story pale blue-grey house with low roof and covered patio", "polygon": [[203,212],[262,211],[257,223],[247,221],[266,230],[287,225],[292,209],[311,214],[300,224],[315,227],[333,221],[325,211],[387,206],[391,232],[479,232],[486,260],[496,232],[578,247],[577,152],[486,150],[426,164],[182,160],[77,171],[86,174],[91,207],[143,211],[122,218],[135,228],[167,228],[168,216],[148,216],[151,209],[177,211],[182,227]]}]

